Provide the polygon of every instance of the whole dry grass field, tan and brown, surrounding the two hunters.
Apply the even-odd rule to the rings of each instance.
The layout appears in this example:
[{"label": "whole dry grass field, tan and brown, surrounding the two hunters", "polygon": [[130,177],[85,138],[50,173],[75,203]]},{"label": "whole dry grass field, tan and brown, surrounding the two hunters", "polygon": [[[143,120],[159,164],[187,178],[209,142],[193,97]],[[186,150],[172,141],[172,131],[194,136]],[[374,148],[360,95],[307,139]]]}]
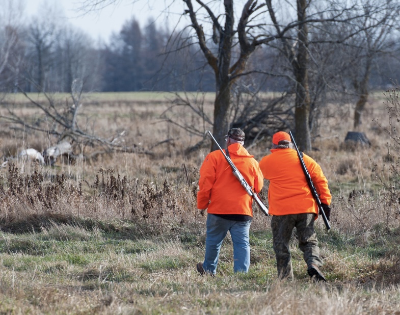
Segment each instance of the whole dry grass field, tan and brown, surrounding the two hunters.
[{"label": "whole dry grass field, tan and brown, surrounding the two hunters", "polygon": [[[26,121],[41,118],[24,98],[8,97],[1,115],[7,116],[9,104]],[[61,104],[68,99],[55,97]],[[343,143],[352,131],[352,104],[330,104],[322,111],[321,133],[313,141],[318,150],[308,154],[329,180],[333,209],[329,232],[322,220],[316,224],[328,279],[316,284],[309,280],[295,235],[295,281],[278,281],[271,218],[257,208],[250,272],[233,273],[228,238],[217,276],[197,273],[205,243],[197,180],[210,142],[185,153],[201,137],[161,117],[174,97],[83,98],[78,126],[136,145],[136,153],[104,153],[78,140],[72,161],[43,166],[19,159],[0,170],[0,313],[400,314],[398,150],[384,131],[398,124],[398,115],[392,111],[390,126],[386,107],[391,105],[382,93],[370,97],[359,130],[370,146]],[[212,95],[203,106],[212,113]],[[209,128],[185,107],[168,115]],[[4,158],[28,147],[42,151],[55,141],[0,120]],[[270,145],[268,139],[249,151],[259,161]]]}]

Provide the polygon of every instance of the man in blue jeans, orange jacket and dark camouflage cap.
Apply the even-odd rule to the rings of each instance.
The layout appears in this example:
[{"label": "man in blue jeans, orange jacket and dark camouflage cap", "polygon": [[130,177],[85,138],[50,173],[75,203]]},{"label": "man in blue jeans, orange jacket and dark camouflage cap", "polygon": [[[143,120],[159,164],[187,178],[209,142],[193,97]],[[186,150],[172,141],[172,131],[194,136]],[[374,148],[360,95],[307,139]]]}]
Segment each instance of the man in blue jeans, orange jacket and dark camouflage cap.
[{"label": "man in blue jeans, orange jacket and dark camouflage cap", "polygon": [[[230,129],[225,136],[226,155],[258,193],[263,177],[253,155],[243,147],[245,133],[239,128]],[[233,271],[249,271],[249,229],[253,217],[252,200],[220,150],[207,154],[200,168],[197,208],[207,209],[207,232],[204,262],[197,264],[197,271],[215,275],[222,241],[228,231],[233,242]]]}]

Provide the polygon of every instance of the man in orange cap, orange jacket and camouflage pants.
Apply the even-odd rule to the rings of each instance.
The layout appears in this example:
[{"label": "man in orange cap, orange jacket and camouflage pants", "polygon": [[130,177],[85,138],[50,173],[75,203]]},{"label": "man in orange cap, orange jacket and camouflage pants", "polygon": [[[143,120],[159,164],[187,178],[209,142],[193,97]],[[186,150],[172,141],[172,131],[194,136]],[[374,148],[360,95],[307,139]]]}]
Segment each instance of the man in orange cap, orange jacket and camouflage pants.
[{"label": "man in orange cap, orange jacket and camouflage pants", "polygon": [[[318,240],[314,231],[318,207],[308,187],[297,151],[292,149],[289,134],[276,133],[272,138],[271,152],[262,158],[259,166],[264,178],[270,181],[268,201],[270,214],[273,215],[271,227],[278,276],[288,280],[294,278],[289,241],[296,227],[299,248],[307,263],[308,274],[315,281],[326,281],[319,271],[323,261],[319,256]],[[328,180],[321,167],[310,156],[303,153],[303,160],[329,220],[332,197]]]}]

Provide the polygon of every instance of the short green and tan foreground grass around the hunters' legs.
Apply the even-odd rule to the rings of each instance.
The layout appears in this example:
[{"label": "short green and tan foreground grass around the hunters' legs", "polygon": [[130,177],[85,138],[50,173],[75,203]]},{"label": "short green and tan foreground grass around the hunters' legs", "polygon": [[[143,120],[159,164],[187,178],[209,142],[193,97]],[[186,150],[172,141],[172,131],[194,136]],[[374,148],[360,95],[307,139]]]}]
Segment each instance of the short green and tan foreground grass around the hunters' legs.
[{"label": "short green and tan foreground grass around the hunters' legs", "polygon": [[[204,231],[186,231],[182,243],[179,235],[139,237],[134,229],[134,225],[113,220],[87,225],[59,223],[18,234],[2,232],[0,311],[83,313],[90,304],[93,313],[130,309],[128,313],[239,314],[263,312],[273,305],[267,313],[302,313],[307,305],[304,301],[313,303],[314,296],[320,296],[343,313],[356,313],[353,306],[360,301],[382,298],[380,289],[363,279],[376,274],[374,266],[389,251],[399,249],[398,228],[387,229],[384,224],[377,225],[374,236],[361,247],[355,241],[357,235],[318,230],[325,258],[323,271],[329,280],[318,286],[308,278],[295,238],[291,251],[296,279],[277,281],[269,229],[251,230],[248,274],[233,273],[232,244],[227,238],[215,278],[201,277],[195,271],[204,255]],[[358,289],[348,286],[352,282],[358,283]],[[356,290],[352,294],[357,301],[339,305],[337,299],[345,298],[348,290]],[[388,302],[384,298],[376,300],[375,306],[368,308],[364,303],[362,307],[368,312],[379,307],[393,310],[400,304],[400,296],[394,287],[385,290],[392,293],[390,303],[384,305]],[[312,310],[319,313],[323,308],[312,304]]]}]

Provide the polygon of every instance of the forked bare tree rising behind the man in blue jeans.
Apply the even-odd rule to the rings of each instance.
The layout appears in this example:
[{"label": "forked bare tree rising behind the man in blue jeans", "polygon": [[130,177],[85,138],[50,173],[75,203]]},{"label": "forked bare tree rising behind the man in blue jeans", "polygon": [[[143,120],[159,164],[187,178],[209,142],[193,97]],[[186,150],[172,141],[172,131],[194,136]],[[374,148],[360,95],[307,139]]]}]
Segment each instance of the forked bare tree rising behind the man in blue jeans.
[{"label": "forked bare tree rising behind the man in blue jeans", "polygon": [[[264,36],[260,32],[263,25],[260,15],[265,4],[256,0],[248,0],[243,5],[234,4],[233,0],[225,0],[223,6],[217,0],[204,3],[201,0],[182,0],[185,14],[189,16],[193,35],[197,39],[204,57],[214,71],[216,78],[216,97],[214,102],[213,133],[217,141],[222,142],[229,129],[231,87],[243,75],[246,63],[261,44],[284,36],[280,34]],[[101,9],[105,5],[115,3],[112,0],[85,0],[82,8],[86,10]],[[196,5],[196,7],[194,6]],[[241,6],[241,15],[235,22],[235,11]],[[207,33],[209,32],[209,33]],[[237,56],[233,55],[237,48]],[[212,143],[211,150],[217,149]]]}]

